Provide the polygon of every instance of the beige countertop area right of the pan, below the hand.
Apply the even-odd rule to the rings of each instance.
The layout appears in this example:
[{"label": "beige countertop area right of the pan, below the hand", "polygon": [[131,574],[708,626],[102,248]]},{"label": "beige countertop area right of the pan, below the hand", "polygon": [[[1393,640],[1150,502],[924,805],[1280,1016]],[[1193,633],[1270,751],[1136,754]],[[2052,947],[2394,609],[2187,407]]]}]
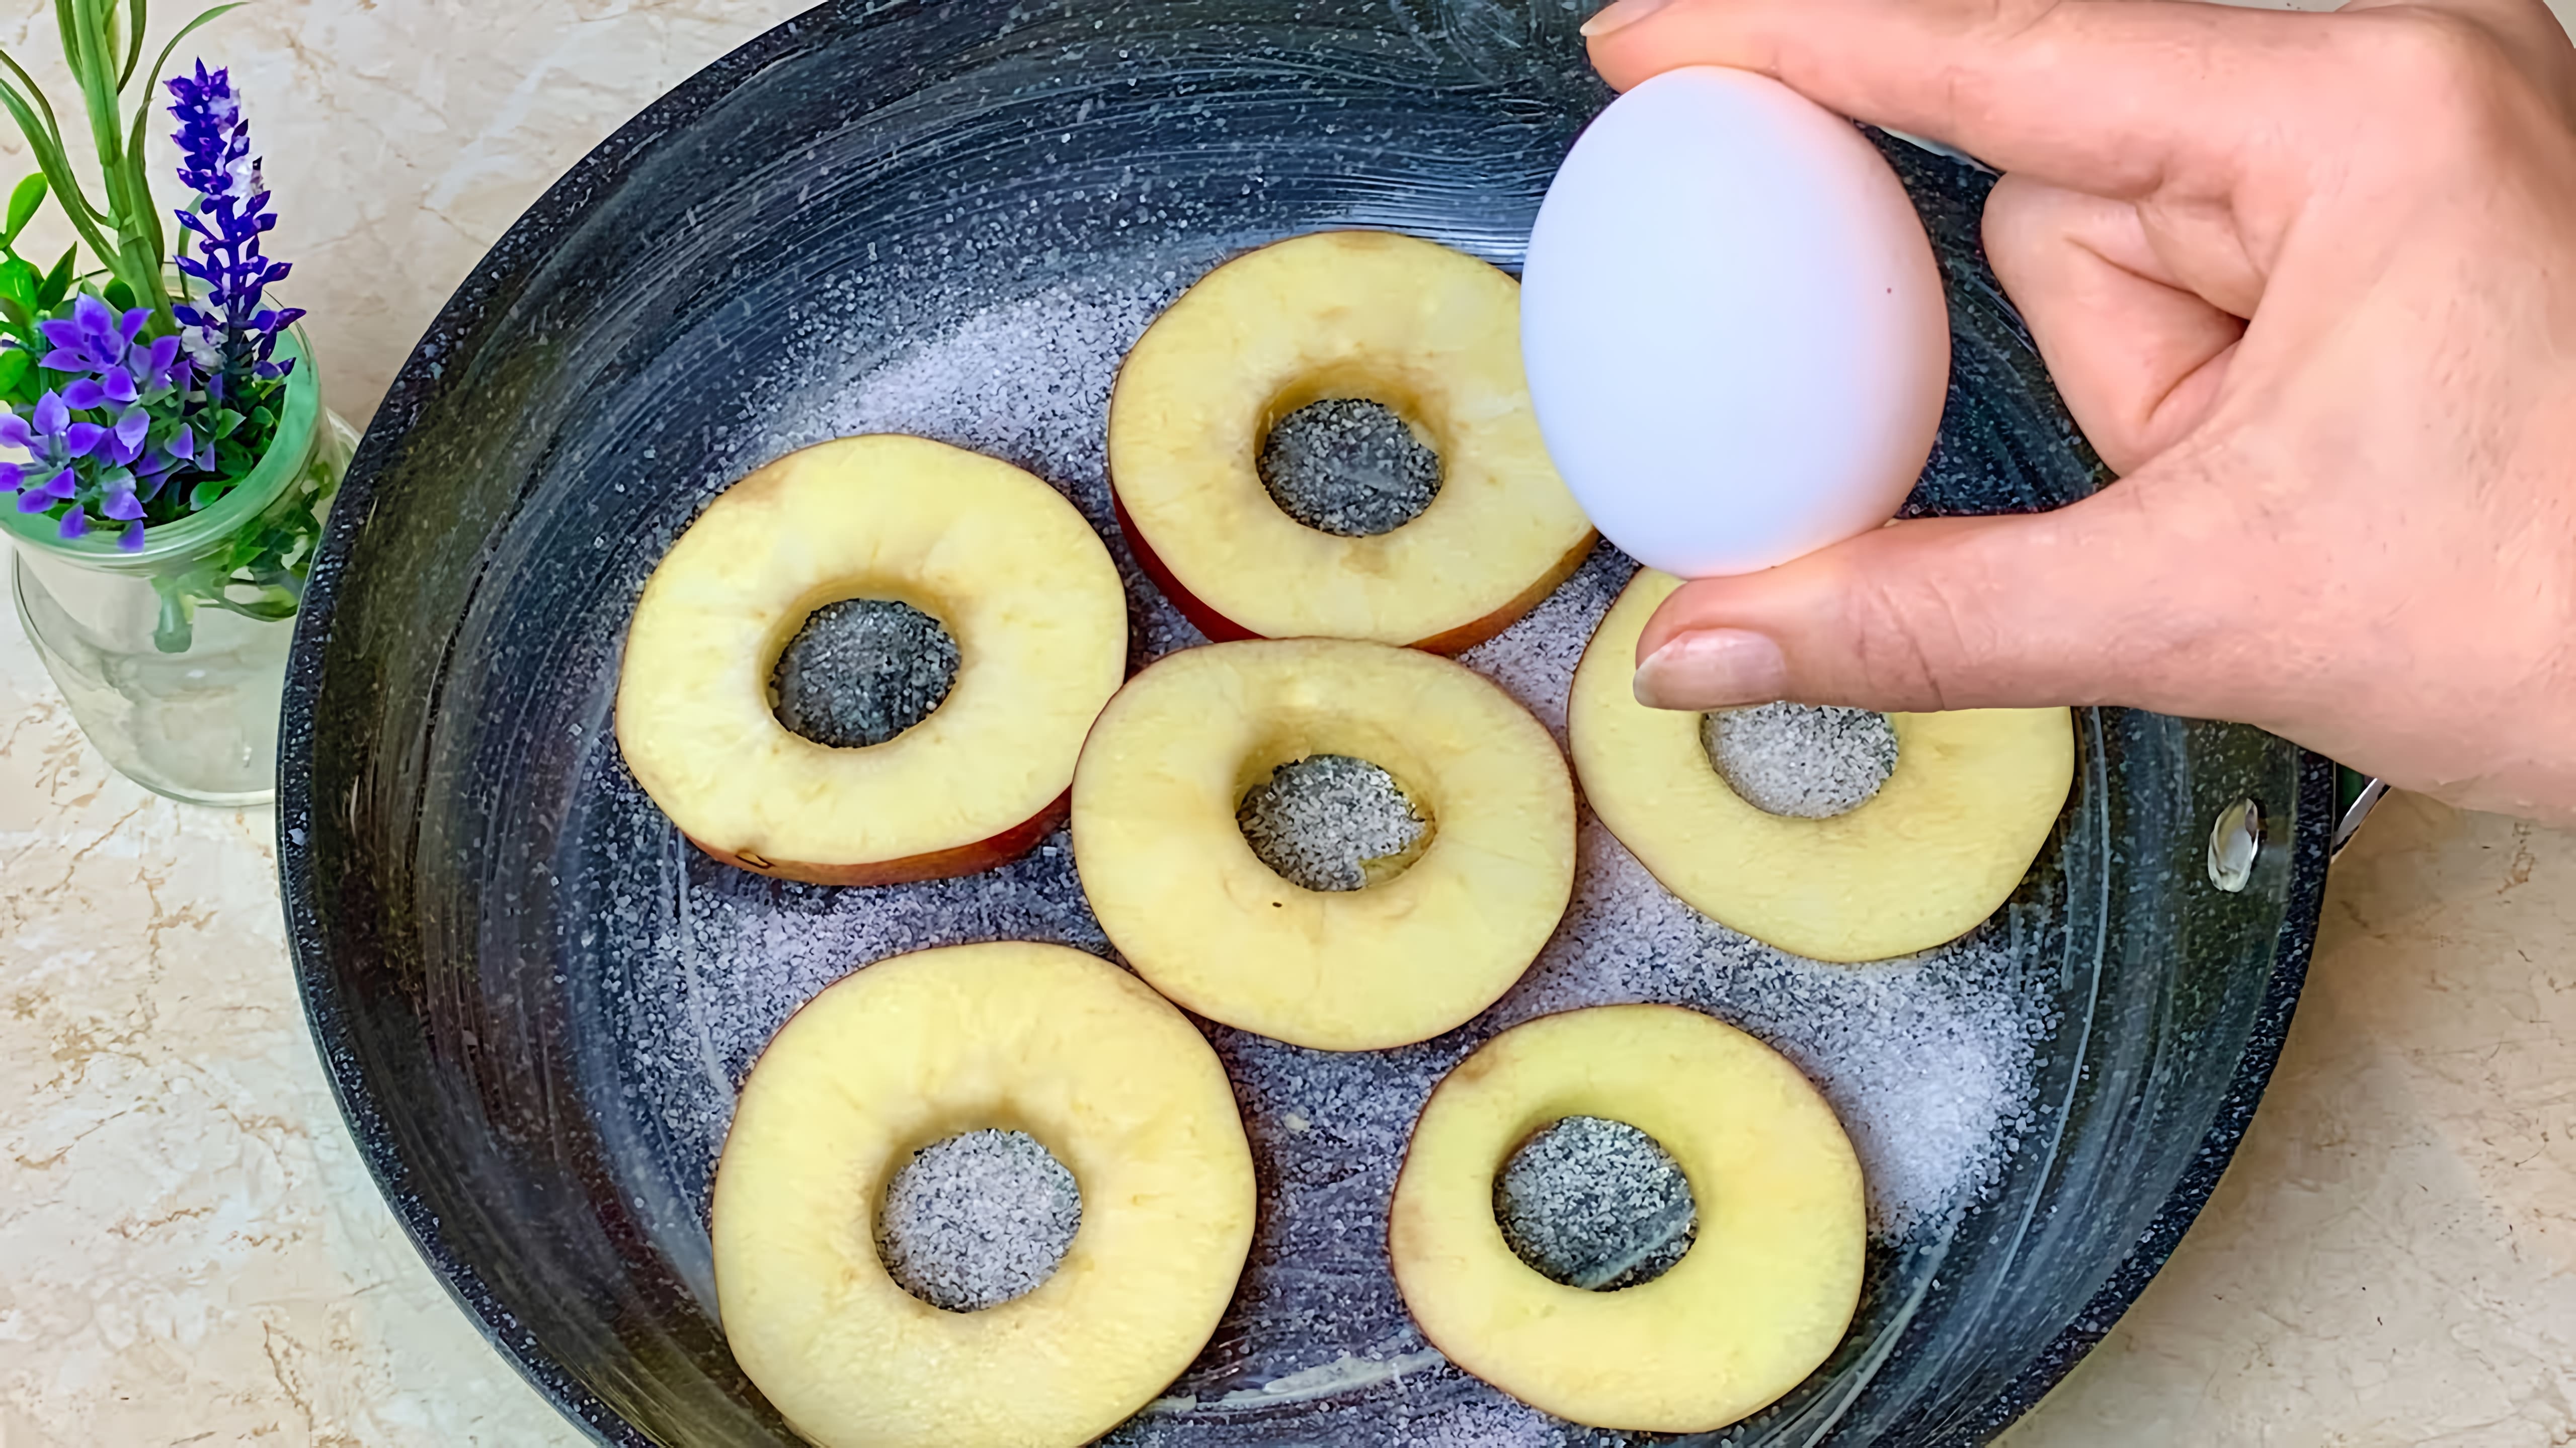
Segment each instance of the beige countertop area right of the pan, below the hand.
[{"label": "beige countertop area right of the pan, below the hand", "polygon": [[2208,1211],[2007,1443],[2576,1443],[2576,835],[2372,817]]}]

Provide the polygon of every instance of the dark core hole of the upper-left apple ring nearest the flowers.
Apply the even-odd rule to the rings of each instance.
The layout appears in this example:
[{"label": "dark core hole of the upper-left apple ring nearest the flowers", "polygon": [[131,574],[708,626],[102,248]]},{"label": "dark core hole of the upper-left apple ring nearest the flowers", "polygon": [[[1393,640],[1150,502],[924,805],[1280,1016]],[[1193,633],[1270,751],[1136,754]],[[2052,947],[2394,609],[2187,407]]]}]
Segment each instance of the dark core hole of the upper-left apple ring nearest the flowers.
[{"label": "dark core hole of the upper-left apple ring nearest the flowers", "polygon": [[806,616],[770,667],[770,711],[791,734],[866,750],[912,729],[948,698],[958,642],[894,598],[842,598]]}]

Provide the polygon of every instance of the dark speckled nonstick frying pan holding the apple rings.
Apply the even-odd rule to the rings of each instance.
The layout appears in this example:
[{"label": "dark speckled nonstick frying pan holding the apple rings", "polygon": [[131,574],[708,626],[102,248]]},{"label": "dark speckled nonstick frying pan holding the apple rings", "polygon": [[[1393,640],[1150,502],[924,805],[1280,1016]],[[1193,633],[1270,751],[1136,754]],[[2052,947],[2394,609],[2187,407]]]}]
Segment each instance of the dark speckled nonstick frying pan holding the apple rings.
[{"label": "dark speckled nonstick frying pan holding the apple rings", "polygon": [[[690,1116],[670,1082],[721,1095],[757,1049],[708,1025],[739,1025],[744,995],[724,974],[739,961],[690,956],[693,902],[781,940],[848,904],[690,858],[626,778],[608,701],[644,572],[747,466],[829,435],[835,389],[961,317],[1046,312],[1097,278],[1170,294],[1231,247],[1334,224],[1515,265],[1607,98],[1579,18],[1574,0],[829,5],[592,152],[422,338],[296,636],[286,910],[386,1201],[492,1345],[603,1443],[793,1440],[711,1311],[721,1103]],[[2105,484],[1978,255],[1989,178],[1883,147],[1958,338],[1911,510]],[[1012,461],[1059,466],[1046,438],[1023,443]],[[2231,724],[2105,709],[2076,732],[2061,830],[1986,933],[2043,1023],[1999,1172],[1880,1239],[1842,1353],[1716,1440],[1989,1438],[2120,1317],[2226,1167],[2308,961],[2334,770]],[[2239,801],[2262,845],[2223,891],[2210,835]],[[907,899],[925,930],[1084,940],[1061,853]],[[1425,1090],[1489,1033],[1352,1064],[1345,1085]],[[1262,1170],[1340,1193],[1363,1229],[1329,1247],[1306,1208],[1273,1203],[1208,1355],[1113,1440],[1643,1440],[1538,1420],[1425,1355],[1365,1232],[1391,1162],[1273,1129],[1257,1080],[1283,1056],[1211,1038],[1252,1082]],[[1316,1350],[1394,1368],[1296,1378]],[[1280,1381],[1293,1391],[1262,1391]]]}]

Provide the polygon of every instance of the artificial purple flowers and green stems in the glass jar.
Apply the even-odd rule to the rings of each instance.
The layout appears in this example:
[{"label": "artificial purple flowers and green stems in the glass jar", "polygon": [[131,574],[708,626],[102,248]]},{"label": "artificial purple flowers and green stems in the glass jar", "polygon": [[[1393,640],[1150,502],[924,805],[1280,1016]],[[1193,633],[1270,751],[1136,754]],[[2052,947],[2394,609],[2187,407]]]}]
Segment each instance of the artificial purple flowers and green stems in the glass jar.
[{"label": "artificial purple flowers and green stems in the glass jar", "polygon": [[[72,165],[54,106],[0,52],[0,108],[39,165],[10,193],[0,227],[0,508],[46,518],[64,544],[106,536],[142,551],[155,528],[234,492],[278,441],[294,358],[276,350],[301,312],[268,301],[289,268],[265,255],[278,219],[229,72],[198,62],[167,82],[178,180],[188,188],[175,252],[144,165],[162,64],[180,39],[232,8],[196,15],[144,70],[147,0],[54,0],[100,201]],[[77,245],[39,268],[15,245],[46,198]],[[307,479],[304,490],[314,487]],[[188,647],[198,605],[291,618],[314,533],[314,508],[278,510],[155,575],[160,647]]]}]

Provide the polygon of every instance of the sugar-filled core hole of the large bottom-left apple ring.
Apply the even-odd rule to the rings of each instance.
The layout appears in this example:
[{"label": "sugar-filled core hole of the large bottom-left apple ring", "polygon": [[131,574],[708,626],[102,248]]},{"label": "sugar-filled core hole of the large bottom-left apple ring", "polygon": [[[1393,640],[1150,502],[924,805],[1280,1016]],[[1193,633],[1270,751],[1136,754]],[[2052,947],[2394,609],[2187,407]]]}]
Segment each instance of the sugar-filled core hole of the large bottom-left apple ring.
[{"label": "sugar-filled core hole of the large bottom-left apple ring", "polygon": [[984,1311],[1056,1275],[1082,1226],[1074,1172],[1025,1131],[963,1131],[912,1154],[876,1214],[876,1255],[912,1296]]}]

